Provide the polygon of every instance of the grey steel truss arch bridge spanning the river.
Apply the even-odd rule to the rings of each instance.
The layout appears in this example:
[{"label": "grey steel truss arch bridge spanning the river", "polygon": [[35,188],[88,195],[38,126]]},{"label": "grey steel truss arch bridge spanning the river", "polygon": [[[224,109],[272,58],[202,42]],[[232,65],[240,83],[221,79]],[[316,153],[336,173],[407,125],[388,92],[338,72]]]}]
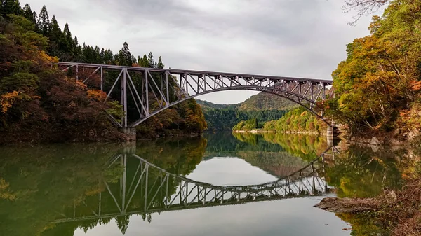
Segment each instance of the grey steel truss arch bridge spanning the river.
[{"label": "grey steel truss arch bridge spanning the river", "polygon": [[[319,99],[333,96],[333,90],[329,89],[333,83],[331,80],[74,62],[56,62],[55,65],[62,71],[75,70],[76,80],[83,83],[94,77],[100,78],[98,87],[107,93],[107,99],[118,97],[123,105],[121,122],[110,116],[119,127],[135,127],[187,99],[227,90],[268,92],[300,104],[326,122],[323,111],[314,108]],[[135,83],[133,77],[140,78],[141,82]],[[133,107],[129,107],[128,102]],[[135,110],[136,115],[129,117],[128,109]]]}]

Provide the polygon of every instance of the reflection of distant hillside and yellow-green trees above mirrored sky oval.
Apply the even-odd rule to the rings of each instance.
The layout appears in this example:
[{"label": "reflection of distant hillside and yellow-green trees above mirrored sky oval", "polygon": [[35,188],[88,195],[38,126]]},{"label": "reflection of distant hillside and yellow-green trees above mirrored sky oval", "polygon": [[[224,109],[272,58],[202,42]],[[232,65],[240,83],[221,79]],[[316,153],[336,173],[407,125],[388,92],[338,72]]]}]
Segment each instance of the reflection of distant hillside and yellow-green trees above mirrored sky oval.
[{"label": "reflection of distant hillside and yellow-green trees above mirrored sky oval", "polygon": [[318,158],[327,148],[326,139],[295,134],[225,132],[210,135],[207,139],[207,158],[234,155],[275,176],[295,172]]}]

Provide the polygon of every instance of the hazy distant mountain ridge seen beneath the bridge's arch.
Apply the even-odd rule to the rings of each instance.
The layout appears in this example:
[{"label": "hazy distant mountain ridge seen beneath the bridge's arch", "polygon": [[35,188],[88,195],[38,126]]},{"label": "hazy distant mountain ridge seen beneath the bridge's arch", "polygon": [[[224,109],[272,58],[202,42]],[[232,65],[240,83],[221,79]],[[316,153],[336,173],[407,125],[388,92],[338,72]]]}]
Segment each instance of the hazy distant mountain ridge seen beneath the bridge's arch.
[{"label": "hazy distant mountain ridge seen beneath the bridge's arch", "polygon": [[196,102],[206,109],[237,109],[239,111],[259,111],[259,110],[290,110],[297,104],[290,100],[269,93],[260,92],[239,104],[214,104],[212,102],[196,99]]}]

